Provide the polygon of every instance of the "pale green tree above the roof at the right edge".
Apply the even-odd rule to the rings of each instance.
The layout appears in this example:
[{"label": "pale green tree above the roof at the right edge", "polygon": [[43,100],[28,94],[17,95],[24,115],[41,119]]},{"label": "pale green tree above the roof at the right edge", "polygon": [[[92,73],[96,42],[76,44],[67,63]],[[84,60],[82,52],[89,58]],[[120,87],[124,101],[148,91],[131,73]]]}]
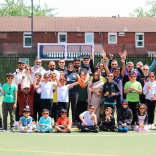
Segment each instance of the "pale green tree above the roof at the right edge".
[{"label": "pale green tree above the roof at the right edge", "polygon": [[142,7],[139,7],[136,8],[133,13],[130,13],[130,15],[133,17],[156,17],[156,0],[147,0],[145,4],[150,6],[150,10],[144,11]]}]

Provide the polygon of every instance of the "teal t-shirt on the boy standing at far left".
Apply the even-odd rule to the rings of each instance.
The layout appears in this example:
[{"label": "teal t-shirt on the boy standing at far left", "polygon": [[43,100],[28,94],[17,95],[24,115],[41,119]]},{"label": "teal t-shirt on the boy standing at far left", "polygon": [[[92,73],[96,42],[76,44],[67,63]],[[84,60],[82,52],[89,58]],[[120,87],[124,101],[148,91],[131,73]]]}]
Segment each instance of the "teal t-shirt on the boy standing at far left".
[{"label": "teal t-shirt on the boy standing at far left", "polygon": [[8,83],[5,83],[2,87],[2,90],[5,91],[3,102],[14,103],[15,91],[17,91],[17,86],[14,83],[12,83],[11,85],[9,85]]}]

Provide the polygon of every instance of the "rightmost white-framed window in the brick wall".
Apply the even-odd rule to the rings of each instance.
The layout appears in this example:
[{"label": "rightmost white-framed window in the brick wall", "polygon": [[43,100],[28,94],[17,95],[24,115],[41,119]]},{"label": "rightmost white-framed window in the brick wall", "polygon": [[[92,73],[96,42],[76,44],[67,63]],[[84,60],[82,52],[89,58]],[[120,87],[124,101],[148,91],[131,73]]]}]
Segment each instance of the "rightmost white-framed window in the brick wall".
[{"label": "rightmost white-framed window in the brick wall", "polygon": [[135,34],[135,46],[136,46],[136,48],[144,47],[144,33],[136,33]]}]

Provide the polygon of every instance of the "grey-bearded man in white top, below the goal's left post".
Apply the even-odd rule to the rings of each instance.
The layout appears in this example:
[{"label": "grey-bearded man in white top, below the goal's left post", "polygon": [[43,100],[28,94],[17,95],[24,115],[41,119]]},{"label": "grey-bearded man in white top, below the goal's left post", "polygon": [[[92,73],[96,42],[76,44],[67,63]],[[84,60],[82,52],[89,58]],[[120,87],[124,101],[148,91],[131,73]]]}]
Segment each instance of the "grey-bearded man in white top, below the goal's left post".
[{"label": "grey-bearded man in white top, below the goal's left post", "polygon": [[31,67],[31,78],[34,81],[35,80],[35,74],[36,73],[41,73],[42,75],[44,75],[44,73],[46,72],[46,70],[42,67],[42,61],[37,58],[34,62],[34,66]]}]

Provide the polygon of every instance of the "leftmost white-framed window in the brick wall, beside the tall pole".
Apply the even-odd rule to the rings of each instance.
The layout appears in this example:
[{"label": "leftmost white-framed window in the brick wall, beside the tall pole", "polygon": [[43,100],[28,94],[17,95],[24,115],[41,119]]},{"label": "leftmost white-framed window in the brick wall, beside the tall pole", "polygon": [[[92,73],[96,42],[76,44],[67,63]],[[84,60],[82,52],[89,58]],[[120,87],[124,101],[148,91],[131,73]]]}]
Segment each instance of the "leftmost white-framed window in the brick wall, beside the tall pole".
[{"label": "leftmost white-framed window in the brick wall, beside the tall pole", "polygon": [[23,34],[23,47],[24,48],[32,47],[32,34],[31,33],[27,32]]}]

